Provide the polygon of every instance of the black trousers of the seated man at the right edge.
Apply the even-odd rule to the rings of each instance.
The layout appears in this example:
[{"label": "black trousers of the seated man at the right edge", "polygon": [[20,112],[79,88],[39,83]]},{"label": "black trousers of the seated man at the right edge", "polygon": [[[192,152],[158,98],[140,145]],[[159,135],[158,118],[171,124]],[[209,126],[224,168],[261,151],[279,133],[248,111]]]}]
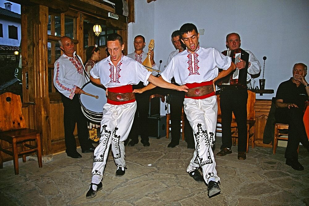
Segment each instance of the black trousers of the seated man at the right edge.
[{"label": "black trousers of the seated man at the right edge", "polygon": [[298,159],[297,148],[299,142],[308,148],[308,138],[303,122],[303,108],[291,107],[277,108],[275,118],[276,122],[282,124],[289,124],[289,137],[288,144],[286,146],[285,158]]}]

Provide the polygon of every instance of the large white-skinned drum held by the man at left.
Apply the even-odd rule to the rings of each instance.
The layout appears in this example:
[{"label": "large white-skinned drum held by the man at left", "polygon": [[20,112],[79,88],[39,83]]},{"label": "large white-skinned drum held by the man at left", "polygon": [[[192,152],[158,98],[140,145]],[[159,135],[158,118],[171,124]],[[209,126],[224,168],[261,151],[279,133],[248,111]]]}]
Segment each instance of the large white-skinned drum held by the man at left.
[{"label": "large white-skinned drum held by the man at left", "polygon": [[79,102],[81,104],[83,114],[87,117],[87,119],[95,123],[100,123],[103,116],[103,106],[107,102],[106,91],[91,82],[85,84],[82,87],[82,90],[91,95],[99,96],[98,99],[95,99],[95,97],[81,94],[79,95]]}]

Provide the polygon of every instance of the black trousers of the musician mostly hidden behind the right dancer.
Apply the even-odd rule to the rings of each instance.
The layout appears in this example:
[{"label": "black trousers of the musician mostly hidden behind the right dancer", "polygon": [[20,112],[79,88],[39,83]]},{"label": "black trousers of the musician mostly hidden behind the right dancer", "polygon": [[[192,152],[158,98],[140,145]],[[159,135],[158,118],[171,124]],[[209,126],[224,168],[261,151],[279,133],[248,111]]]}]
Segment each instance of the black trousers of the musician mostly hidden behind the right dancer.
[{"label": "black trousers of the musician mostly hidden behind the right dancer", "polygon": [[[170,102],[171,108],[171,142],[179,143],[180,139],[180,121],[181,121],[181,111],[184,106],[184,92],[175,91],[172,92],[172,99]],[[193,130],[184,113],[184,137],[188,145],[194,145],[193,140]]]}]

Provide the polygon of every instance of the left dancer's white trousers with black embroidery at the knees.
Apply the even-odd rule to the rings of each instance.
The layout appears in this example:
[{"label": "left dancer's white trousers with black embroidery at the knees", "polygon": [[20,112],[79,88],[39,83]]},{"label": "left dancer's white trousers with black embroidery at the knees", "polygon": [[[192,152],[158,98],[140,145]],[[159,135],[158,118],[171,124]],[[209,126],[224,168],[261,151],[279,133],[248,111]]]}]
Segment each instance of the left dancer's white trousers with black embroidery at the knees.
[{"label": "left dancer's white trousers with black embroidery at the knees", "polygon": [[106,103],[103,107],[101,121],[101,137],[93,156],[92,180],[103,178],[103,172],[108,157],[109,146],[112,144],[112,153],[118,167],[125,167],[125,145],[131,130],[136,102],[113,105]]}]

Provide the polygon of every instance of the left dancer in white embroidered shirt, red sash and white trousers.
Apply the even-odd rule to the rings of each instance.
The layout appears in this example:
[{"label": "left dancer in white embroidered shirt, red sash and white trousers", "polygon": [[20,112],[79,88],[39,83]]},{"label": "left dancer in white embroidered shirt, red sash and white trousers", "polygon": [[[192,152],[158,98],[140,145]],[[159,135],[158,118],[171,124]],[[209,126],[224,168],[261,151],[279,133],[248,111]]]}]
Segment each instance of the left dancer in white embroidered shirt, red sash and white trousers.
[{"label": "left dancer in white embroidered shirt, red sash and white trousers", "polygon": [[[108,88],[108,100],[103,107],[100,144],[95,148],[93,157],[92,180],[86,198],[92,198],[103,188],[103,171],[108,156],[109,146],[117,166],[116,176],[125,174],[125,146],[136,111],[133,84],[140,81],[145,85],[152,82],[164,88],[187,91],[186,86],[176,86],[156,78],[143,65],[122,54],[124,49],[122,37],[111,34],[107,38],[110,57],[95,64],[90,71],[92,82]],[[145,128],[146,129],[146,128]]]}]

